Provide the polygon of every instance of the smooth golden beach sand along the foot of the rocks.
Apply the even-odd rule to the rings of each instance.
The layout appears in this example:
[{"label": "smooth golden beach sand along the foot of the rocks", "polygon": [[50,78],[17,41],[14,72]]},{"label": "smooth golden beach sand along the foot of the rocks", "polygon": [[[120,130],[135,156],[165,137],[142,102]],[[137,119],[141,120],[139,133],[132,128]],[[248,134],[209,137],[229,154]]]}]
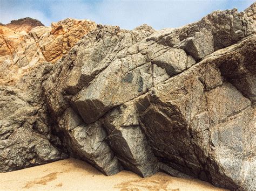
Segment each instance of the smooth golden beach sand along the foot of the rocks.
[{"label": "smooth golden beach sand along the foot of the rocks", "polygon": [[157,173],[149,178],[122,171],[105,176],[76,159],[0,173],[0,190],[224,190],[208,182]]}]

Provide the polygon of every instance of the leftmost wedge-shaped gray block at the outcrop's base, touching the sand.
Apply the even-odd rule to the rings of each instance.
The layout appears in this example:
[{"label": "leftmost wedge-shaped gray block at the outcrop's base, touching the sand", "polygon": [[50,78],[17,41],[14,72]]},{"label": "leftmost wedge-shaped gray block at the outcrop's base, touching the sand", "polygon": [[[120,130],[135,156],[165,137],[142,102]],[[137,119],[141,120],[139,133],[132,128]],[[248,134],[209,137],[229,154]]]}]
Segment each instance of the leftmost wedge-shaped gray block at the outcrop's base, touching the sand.
[{"label": "leftmost wedge-shaped gray block at the outcrop's base, touching the sand", "polygon": [[[100,122],[90,125],[71,108],[59,118],[59,135],[63,145],[72,157],[90,162],[106,175],[113,175],[123,169],[106,142],[106,132]],[[56,128],[57,129],[57,128]]]}]

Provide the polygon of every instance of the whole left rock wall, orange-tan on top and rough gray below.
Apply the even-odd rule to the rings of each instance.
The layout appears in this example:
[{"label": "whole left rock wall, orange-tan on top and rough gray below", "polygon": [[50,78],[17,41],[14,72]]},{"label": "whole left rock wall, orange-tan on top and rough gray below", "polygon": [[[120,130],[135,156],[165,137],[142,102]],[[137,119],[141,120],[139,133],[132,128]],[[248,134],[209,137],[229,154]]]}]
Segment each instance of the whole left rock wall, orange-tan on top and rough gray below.
[{"label": "whole left rock wall, orange-tan on top and rough gray below", "polygon": [[[56,29],[58,26],[60,29]],[[52,119],[42,83],[48,79],[54,63],[49,52],[59,51],[53,58],[60,58],[95,23],[65,19],[45,27],[37,20],[24,18],[0,27],[0,171],[68,157],[60,149],[59,138],[51,133]],[[69,44],[57,47],[56,39]],[[43,63],[45,60],[52,63]]]}]

